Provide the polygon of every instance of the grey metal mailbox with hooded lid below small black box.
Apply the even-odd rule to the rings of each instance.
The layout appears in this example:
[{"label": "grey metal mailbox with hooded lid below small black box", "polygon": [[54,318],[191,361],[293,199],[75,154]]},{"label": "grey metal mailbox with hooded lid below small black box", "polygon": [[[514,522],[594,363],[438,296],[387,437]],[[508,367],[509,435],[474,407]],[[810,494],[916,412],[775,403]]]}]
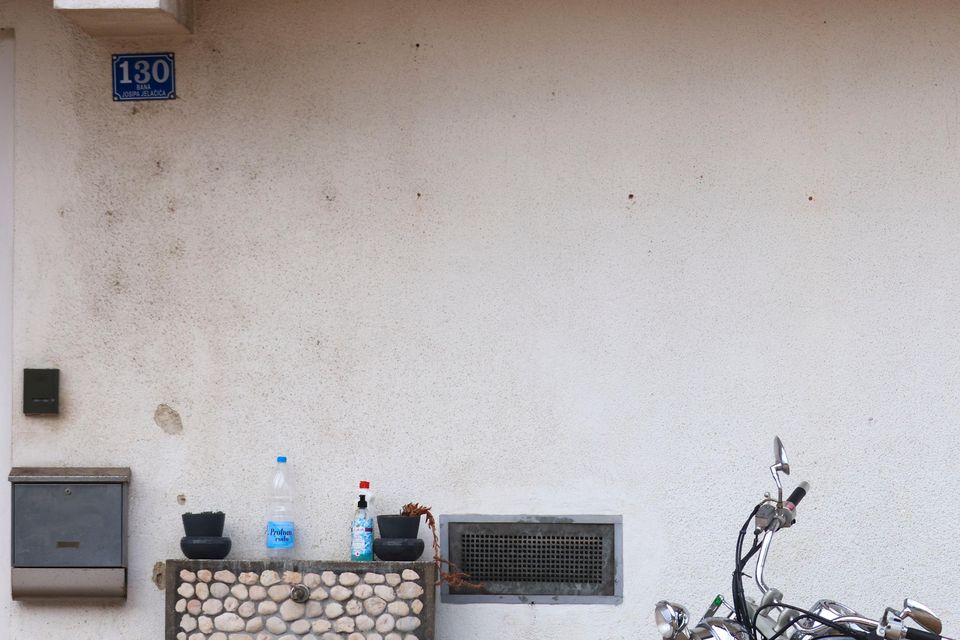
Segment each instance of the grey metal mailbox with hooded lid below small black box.
[{"label": "grey metal mailbox with hooded lid below small black box", "polygon": [[9,479],[13,599],[126,598],[130,469],[16,467]]}]

